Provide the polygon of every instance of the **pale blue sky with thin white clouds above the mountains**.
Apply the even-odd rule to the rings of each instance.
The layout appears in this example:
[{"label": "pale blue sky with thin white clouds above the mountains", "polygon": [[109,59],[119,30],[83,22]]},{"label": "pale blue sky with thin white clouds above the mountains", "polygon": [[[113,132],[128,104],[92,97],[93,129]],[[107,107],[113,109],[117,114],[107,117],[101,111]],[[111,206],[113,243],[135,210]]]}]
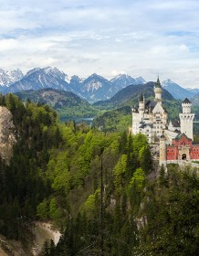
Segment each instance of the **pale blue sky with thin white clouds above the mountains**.
[{"label": "pale blue sky with thin white clouds above the mountains", "polygon": [[0,68],[199,88],[197,0],[0,0]]}]

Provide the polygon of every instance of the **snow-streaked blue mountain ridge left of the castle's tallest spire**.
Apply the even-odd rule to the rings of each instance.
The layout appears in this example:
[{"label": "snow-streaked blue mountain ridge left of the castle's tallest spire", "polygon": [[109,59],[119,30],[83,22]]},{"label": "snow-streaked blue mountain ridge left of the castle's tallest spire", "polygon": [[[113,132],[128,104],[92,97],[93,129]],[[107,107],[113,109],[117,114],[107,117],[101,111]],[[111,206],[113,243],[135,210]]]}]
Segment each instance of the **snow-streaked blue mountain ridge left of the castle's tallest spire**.
[{"label": "snow-streaked blue mountain ridge left of the castle's tallest spire", "polygon": [[[3,69],[1,74],[2,80],[5,80],[5,72],[3,72]],[[2,87],[0,87],[0,90],[3,93],[8,93],[53,88],[63,91],[72,91],[81,98],[94,102],[110,99],[117,91],[120,91],[120,89],[130,84],[140,84],[144,82],[145,80],[141,77],[133,79],[131,76],[124,74],[112,80],[107,80],[96,73],[86,79],[80,79],[76,75],[70,78],[57,68],[47,67],[44,69],[31,69],[25,76],[21,72],[21,75],[15,80],[6,80],[4,86],[2,84]]]}]

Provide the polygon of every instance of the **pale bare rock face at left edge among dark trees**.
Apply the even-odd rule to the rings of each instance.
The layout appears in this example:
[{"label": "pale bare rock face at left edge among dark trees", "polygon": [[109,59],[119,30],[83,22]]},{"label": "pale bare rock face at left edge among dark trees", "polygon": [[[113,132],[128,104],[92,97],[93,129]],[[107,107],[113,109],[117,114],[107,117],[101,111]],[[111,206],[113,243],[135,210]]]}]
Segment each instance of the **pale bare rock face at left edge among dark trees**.
[{"label": "pale bare rock face at left edge among dark trees", "polygon": [[15,125],[12,113],[0,106],[0,156],[8,165],[16,143]]}]

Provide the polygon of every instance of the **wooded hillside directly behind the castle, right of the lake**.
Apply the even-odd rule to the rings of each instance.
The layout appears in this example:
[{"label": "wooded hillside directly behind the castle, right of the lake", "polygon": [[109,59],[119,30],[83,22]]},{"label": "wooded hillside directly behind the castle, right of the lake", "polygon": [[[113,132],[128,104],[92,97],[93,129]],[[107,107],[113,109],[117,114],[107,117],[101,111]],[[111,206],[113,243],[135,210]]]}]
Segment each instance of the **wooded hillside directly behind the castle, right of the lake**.
[{"label": "wooded hillside directly behind the castle, right of the lake", "polygon": [[[153,87],[153,82],[131,85],[116,93],[108,101],[94,103],[96,108],[105,109],[107,112],[96,117],[93,126],[99,127],[103,131],[127,131],[128,127],[131,126],[131,107],[138,104],[141,93],[143,93],[146,101],[154,99]],[[178,119],[181,103],[182,101],[175,100],[170,92],[162,91],[162,104],[169,113],[170,120]]]}]

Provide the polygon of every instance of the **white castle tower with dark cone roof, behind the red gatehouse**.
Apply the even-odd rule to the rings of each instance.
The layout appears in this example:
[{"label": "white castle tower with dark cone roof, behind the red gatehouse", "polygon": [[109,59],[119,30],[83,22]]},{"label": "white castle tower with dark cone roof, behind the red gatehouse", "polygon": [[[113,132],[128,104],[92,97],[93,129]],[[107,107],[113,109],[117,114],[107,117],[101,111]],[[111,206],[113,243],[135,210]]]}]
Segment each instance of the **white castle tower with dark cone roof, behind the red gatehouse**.
[{"label": "white castle tower with dark cone roof, behind the red gatehouse", "polygon": [[179,114],[181,122],[181,133],[193,140],[194,113],[191,112],[192,102],[187,98],[182,103],[183,113]]}]

